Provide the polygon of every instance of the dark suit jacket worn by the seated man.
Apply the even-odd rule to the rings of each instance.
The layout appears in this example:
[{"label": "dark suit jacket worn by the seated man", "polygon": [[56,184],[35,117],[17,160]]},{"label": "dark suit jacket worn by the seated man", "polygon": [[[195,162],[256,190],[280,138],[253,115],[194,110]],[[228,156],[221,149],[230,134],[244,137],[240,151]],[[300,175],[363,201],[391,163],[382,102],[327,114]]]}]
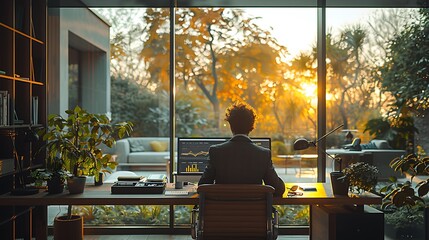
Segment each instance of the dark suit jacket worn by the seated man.
[{"label": "dark suit jacket worn by the seated man", "polygon": [[275,188],[274,196],[285,191],[271,161],[271,151],[252,143],[245,135],[236,135],[209,150],[209,163],[200,184],[262,184]]}]

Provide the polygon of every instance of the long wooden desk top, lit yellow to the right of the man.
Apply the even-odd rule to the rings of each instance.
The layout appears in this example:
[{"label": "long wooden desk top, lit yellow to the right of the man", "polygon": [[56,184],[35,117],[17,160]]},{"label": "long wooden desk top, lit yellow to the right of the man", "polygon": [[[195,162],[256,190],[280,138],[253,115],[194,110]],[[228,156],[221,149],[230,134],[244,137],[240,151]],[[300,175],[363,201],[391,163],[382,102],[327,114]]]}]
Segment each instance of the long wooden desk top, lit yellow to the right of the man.
[{"label": "long wooden desk top, lit yellow to the right of the man", "polygon": [[[375,194],[366,193],[350,197],[335,197],[332,194],[329,183],[285,183],[286,189],[293,185],[300,187],[316,187],[317,191],[302,191],[302,196],[275,197],[275,205],[367,205],[381,204],[382,198]],[[30,196],[12,196],[9,193],[0,195],[0,205],[3,206],[44,206],[44,205],[196,205],[198,194],[195,186],[186,186],[190,191],[188,196],[165,196],[164,194],[111,194],[111,184],[102,186],[87,185],[82,194],[69,194],[64,191],[61,194],[48,194],[40,190],[38,194]],[[167,189],[173,189],[172,184],[167,184]]]}]

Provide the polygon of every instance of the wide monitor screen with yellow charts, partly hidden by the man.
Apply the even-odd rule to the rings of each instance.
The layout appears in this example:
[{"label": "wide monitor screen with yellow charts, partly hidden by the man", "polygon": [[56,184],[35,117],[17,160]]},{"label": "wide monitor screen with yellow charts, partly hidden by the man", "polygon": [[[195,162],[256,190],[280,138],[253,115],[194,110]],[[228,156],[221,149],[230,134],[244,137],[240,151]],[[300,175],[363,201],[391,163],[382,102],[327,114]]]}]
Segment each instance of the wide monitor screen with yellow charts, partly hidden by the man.
[{"label": "wide monitor screen with yellow charts, partly hidden by the man", "polygon": [[[209,148],[230,138],[178,138],[177,174],[201,175],[208,164]],[[251,138],[258,146],[271,149],[270,138]]]}]

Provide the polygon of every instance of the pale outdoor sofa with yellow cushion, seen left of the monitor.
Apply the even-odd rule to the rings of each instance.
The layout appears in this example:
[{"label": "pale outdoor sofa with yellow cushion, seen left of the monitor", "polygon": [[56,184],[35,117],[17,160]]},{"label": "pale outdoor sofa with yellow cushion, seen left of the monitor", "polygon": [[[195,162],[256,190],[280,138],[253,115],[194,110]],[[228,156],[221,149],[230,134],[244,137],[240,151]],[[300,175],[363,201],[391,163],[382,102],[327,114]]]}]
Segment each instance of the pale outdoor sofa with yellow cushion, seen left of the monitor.
[{"label": "pale outdoor sofa with yellow cushion, seen left of the monitor", "polygon": [[165,170],[170,156],[168,137],[130,137],[116,141],[118,170]]}]

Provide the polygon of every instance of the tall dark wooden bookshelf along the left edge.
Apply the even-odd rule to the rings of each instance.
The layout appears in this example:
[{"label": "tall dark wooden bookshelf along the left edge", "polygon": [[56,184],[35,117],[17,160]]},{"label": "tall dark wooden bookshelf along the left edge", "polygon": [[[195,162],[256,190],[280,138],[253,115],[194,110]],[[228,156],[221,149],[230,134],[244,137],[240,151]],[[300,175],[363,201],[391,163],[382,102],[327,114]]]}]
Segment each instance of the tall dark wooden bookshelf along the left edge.
[{"label": "tall dark wooden bookshelf along the left edge", "polygon": [[[46,28],[47,0],[0,1],[0,97],[6,96],[0,100],[0,160],[7,160],[5,166],[9,166],[0,171],[0,194],[20,187],[14,145],[24,179],[32,169],[44,166],[45,156],[35,154],[42,140],[29,141],[28,136],[47,120]],[[33,99],[37,99],[37,107]],[[20,236],[16,225],[31,216],[31,209],[2,207],[0,211],[5,213],[0,221],[5,239],[28,237]]]}]

